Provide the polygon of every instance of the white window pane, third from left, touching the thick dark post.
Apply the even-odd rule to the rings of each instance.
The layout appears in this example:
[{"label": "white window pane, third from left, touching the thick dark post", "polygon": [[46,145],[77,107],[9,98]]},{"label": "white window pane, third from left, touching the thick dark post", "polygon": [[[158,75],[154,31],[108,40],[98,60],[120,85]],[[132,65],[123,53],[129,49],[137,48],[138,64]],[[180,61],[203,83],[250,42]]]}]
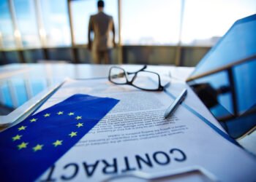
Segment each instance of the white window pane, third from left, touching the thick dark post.
[{"label": "white window pane, third from left, touching the thick dark post", "polygon": [[66,0],[41,0],[42,17],[48,46],[71,44]]}]

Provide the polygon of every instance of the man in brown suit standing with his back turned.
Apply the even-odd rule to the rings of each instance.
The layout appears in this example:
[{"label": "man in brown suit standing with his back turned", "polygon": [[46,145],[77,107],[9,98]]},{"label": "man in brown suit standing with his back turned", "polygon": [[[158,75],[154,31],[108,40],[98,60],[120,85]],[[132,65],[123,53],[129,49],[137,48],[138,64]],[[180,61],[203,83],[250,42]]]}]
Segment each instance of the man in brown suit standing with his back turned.
[{"label": "man in brown suit standing with his back turned", "polygon": [[[111,48],[116,46],[113,17],[103,12],[104,1],[98,1],[98,13],[91,15],[88,31],[88,49],[92,52],[94,63],[110,63]],[[94,41],[91,43],[91,31],[94,32]],[[110,39],[110,32],[113,39]]]}]

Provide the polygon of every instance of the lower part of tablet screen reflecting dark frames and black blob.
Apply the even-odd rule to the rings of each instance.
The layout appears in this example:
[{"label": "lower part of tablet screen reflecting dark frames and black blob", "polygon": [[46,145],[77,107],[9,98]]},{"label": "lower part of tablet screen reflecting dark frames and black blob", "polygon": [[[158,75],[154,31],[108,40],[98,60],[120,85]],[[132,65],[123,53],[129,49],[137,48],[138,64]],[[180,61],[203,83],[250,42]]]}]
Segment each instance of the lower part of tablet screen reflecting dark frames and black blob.
[{"label": "lower part of tablet screen reflecting dark frames and black blob", "polygon": [[189,82],[206,107],[233,138],[256,125],[256,59]]}]

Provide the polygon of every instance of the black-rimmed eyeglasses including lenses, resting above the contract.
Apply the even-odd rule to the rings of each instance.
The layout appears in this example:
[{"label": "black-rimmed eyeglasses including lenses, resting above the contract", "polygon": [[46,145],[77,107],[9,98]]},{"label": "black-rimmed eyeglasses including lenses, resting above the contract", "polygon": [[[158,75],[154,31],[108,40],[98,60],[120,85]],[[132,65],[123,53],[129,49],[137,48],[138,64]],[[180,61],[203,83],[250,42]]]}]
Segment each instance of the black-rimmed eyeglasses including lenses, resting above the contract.
[{"label": "black-rimmed eyeglasses including lenses, resting above the contract", "polygon": [[[140,90],[164,90],[164,87],[161,85],[159,74],[152,71],[146,71],[146,68],[147,66],[143,66],[143,68],[138,71],[127,72],[123,68],[112,66],[108,74],[108,80],[114,84],[129,84]],[[145,78],[149,78],[150,82],[146,82]]]}]

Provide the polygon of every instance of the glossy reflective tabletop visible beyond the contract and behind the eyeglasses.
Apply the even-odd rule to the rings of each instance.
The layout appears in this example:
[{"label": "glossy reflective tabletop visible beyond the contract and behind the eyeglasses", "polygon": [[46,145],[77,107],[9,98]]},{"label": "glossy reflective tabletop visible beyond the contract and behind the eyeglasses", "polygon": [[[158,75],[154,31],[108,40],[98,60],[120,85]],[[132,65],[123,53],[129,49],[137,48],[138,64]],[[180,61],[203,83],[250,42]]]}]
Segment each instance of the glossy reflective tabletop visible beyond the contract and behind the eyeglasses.
[{"label": "glossy reflective tabletop visible beyond the contract and behind the eyeglasses", "polygon": [[[27,108],[34,106],[64,79],[107,78],[113,65],[70,64],[70,63],[26,63],[0,67],[0,123],[18,119]],[[118,65],[127,71],[137,71],[143,65]],[[178,79],[184,82],[194,68],[175,66],[148,66],[148,71],[157,72],[161,78]],[[18,109],[17,109],[18,108]]]}]

